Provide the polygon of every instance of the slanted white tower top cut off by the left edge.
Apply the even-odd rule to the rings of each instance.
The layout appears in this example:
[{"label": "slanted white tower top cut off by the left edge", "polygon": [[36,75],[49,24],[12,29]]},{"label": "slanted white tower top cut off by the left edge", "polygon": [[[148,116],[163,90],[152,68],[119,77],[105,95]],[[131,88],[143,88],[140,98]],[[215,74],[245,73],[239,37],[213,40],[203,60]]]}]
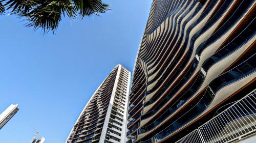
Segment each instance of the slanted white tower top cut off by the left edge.
[{"label": "slanted white tower top cut off by the left edge", "polygon": [[3,113],[0,115],[0,129],[2,129],[5,124],[11,120],[11,118],[17,113],[18,104],[11,104]]}]

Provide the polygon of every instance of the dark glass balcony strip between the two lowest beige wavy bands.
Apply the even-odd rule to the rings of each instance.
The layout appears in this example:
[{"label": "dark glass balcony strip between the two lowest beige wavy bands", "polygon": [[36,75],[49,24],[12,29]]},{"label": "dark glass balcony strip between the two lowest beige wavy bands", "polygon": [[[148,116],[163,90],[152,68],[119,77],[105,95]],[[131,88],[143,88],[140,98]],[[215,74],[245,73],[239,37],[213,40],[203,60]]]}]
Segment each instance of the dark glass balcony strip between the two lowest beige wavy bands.
[{"label": "dark glass balcony strip between the two lowest beige wavy bands", "polygon": [[[189,111],[187,111],[184,115],[182,115],[175,122],[170,124],[164,130],[156,134],[153,138],[157,140],[161,140],[166,136],[172,134],[179,128],[183,127],[185,124],[197,118],[211,103],[212,99],[214,99],[215,94],[226,87],[230,83],[236,82],[256,71],[256,54],[251,56],[248,60],[238,65],[237,67],[231,69],[230,71],[220,75],[216,79],[212,80],[209,84],[209,87],[214,92],[212,93],[210,88],[207,88],[205,94],[201,97],[200,101]],[[146,140],[144,142],[150,142],[152,140]]]}]

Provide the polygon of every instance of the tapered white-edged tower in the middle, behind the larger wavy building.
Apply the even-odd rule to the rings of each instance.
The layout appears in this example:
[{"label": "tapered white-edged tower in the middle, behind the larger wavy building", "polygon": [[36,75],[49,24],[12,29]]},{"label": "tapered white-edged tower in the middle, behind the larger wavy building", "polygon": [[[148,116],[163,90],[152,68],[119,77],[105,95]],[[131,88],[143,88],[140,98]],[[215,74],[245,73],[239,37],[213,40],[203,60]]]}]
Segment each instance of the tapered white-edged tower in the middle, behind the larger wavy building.
[{"label": "tapered white-edged tower in the middle, behind the larger wavy building", "polygon": [[78,117],[66,142],[124,142],[131,73],[117,65]]}]

